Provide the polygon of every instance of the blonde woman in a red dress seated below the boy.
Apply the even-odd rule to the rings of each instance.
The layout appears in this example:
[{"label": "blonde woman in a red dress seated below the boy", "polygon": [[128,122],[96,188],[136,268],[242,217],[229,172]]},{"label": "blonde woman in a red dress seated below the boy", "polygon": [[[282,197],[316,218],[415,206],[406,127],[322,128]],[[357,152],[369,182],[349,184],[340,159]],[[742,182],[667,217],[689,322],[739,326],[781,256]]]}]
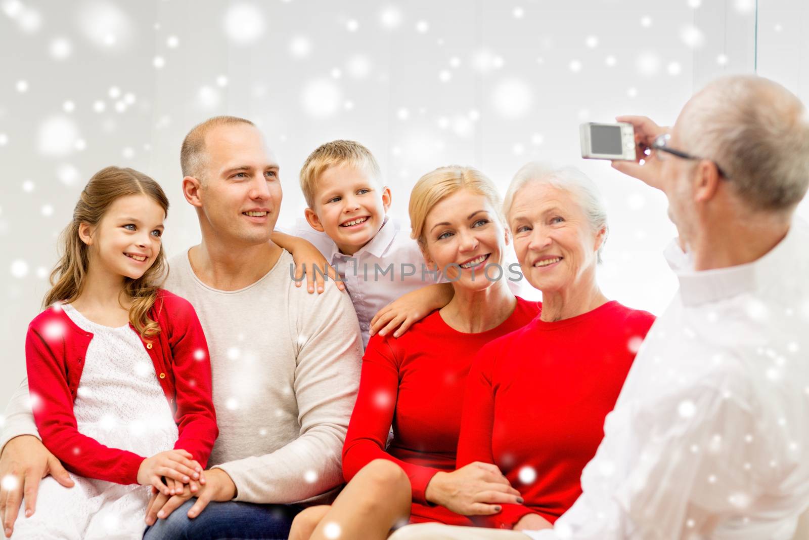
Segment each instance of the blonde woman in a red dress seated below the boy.
[{"label": "blonde woman in a red dress seated below the boy", "polygon": [[539,311],[490,268],[509,243],[497,189],[473,168],[438,168],[413,188],[409,212],[413,238],[454,296],[400,338],[371,338],[343,449],[349,484],[332,507],[304,511],[290,538],[386,538],[400,520],[473,525],[471,515],[523,502],[493,465],[455,470],[472,359]]}]

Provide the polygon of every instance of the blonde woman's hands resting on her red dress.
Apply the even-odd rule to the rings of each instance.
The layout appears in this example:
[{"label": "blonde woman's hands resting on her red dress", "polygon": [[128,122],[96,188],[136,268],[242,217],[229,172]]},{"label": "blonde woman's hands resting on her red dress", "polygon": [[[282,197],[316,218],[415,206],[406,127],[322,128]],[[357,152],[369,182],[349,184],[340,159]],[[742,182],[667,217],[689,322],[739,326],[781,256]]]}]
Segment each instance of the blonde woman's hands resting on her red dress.
[{"label": "blonde woman's hands resting on her red dress", "polygon": [[425,496],[463,516],[490,516],[502,510],[500,504],[523,504],[519,491],[511,487],[498,466],[475,461],[451,473],[439,472],[427,484]]}]

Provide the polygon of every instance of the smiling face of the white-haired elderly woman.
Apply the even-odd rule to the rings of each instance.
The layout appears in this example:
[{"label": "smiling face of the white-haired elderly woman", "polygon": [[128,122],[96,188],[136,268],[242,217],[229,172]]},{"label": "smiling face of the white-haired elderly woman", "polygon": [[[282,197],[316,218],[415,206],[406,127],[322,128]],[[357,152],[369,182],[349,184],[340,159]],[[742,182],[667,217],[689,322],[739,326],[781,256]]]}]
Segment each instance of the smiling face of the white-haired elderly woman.
[{"label": "smiling face of the white-haired elderly woman", "polygon": [[528,181],[513,200],[507,218],[528,282],[543,293],[594,285],[606,231],[593,230],[574,193]]}]

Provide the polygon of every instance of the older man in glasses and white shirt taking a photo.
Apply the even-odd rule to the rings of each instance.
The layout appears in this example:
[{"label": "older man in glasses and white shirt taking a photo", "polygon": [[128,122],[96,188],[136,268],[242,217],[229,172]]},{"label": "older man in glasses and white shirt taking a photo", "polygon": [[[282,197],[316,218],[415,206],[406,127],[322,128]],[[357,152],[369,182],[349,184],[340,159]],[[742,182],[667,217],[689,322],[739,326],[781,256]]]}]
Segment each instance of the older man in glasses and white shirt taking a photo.
[{"label": "older man in glasses and white shirt taking a photo", "polygon": [[[720,79],[669,131],[635,125],[680,233],[680,291],[638,352],[583,493],[553,529],[393,538],[786,540],[809,508],[809,117],[785,88]],[[541,471],[538,471],[541,474]]]}]

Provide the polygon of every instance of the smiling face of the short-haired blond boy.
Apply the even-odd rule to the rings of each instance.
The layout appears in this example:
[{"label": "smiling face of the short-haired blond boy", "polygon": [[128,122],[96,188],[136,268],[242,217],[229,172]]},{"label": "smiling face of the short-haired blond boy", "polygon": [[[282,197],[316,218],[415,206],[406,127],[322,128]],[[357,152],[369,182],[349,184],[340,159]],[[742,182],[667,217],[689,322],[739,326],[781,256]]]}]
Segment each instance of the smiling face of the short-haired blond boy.
[{"label": "smiling face of the short-haired blond boy", "polygon": [[376,236],[391,206],[391,190],[364,168],[330,167],[317,179],[313,208],[306,219],[334,240],[341,253],[354,255]]}]

